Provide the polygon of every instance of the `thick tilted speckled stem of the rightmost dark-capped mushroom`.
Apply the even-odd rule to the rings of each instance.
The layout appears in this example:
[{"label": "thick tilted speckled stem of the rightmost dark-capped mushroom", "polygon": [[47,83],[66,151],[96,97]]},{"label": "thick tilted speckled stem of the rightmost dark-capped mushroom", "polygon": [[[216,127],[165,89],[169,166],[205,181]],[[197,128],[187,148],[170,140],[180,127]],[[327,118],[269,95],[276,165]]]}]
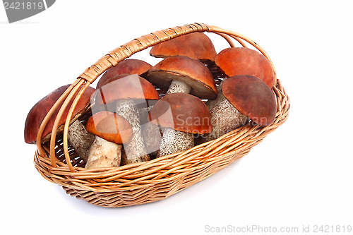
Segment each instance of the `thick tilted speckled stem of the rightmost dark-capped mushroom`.
[{"label": "thick tilted speckled stem of the rightmost dark-capped mushroom", "polygon": [[244,126],[249,121],[249,117],[234,108],[222,91],[218,92],[217,99],[206,102],[206,106],[210,110],[213,126],[212,133],[203,135],[206,142],[220,138],[225,133]]}]

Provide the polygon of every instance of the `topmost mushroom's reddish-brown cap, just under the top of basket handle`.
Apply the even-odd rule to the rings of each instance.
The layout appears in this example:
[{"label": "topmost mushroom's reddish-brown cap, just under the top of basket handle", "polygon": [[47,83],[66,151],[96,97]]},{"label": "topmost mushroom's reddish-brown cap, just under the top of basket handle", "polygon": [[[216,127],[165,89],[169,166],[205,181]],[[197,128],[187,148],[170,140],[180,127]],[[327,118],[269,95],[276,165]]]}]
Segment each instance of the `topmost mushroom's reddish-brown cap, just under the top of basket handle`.
[{"label": "topmost mushroom's reddish-brown cap, just under the top of basket handle", "polygon": [[217,52],[207,35],[193,32],[153,46],[150,55],[158,58],[188,56],[197,60],[215,61]]}]

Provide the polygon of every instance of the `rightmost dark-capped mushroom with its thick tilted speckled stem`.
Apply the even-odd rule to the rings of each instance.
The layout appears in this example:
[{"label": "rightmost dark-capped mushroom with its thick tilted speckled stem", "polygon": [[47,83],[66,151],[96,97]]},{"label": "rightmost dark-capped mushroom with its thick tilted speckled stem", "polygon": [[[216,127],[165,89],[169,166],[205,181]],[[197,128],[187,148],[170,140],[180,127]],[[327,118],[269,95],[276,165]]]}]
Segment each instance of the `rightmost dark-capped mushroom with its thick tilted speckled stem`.
[{"label": "rightmost dark-capped mushroom with its thick tilted speckled stem", "polygon": [[213,132],[203,136],[206,141],[244,126],[249,119],[268,126],[273,123],[277,110],[275,96],[268,85],[248,75],[224,80],[217,99],[209,100],[206,105],[213,125]]}]

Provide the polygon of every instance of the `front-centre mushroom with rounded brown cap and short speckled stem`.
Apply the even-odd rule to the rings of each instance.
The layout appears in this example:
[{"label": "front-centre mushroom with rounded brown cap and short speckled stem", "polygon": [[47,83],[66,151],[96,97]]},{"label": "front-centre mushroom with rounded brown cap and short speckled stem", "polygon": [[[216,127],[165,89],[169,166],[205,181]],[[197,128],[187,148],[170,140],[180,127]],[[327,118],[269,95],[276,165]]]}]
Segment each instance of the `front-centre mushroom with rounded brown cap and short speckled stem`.
[{"label": "front-centre mushroom with rounded brown cap and short speckled stem", "polygon": [[198,97],[173,93],[162,97],[150,111],[150,121],[164,128],[157,157],[193,147],[193,134],[212,131],[210,112]]}]

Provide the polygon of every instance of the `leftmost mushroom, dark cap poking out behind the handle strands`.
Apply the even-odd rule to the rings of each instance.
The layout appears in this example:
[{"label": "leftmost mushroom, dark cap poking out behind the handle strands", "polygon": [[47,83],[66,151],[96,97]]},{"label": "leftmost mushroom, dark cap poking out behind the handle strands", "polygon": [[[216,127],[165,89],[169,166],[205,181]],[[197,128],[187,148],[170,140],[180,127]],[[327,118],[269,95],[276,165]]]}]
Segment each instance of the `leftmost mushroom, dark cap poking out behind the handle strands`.
[{"label": "leftmost mushroom, dark cap poking out behind the handle strands", "polygon": [[[30,112],[28,112],[27,119],[25,121],[25,143],[34,144],[36,143],[37,133],[40,128],[40,124],[42,123],[44,117],[49,112],[49,109],[52,108],[56,100],[65,92],[65,90],[70,85],[64,85],[60,88],[57,88],[53,92],[49,93],[49,95],[45,96],[35,104]],[[83,126],[78,118],[85,112],[90,104],[90,97],[95,92],[95,88],[88,87],[83,95],[78,100],[78,104],[76,108],[73,110],[73,119],[71,120],[70,126],[68,127],[68,142],[71,143],[73,148],[76,150],[78,155],[84,160],[87,161],[88,153],[90,150],[90,145],[95,138],[94,135],[88,133],[85,130],[85,126]],[[64,114],[61,116],[59,121],[58,131],[56,135],[62,133],[64,131],[64,124],[66,121],[66,116],[68,115],[68,110],[71,107],[73,100],[68,103]],[[60,107],[60,106],[59,106]],[[41,142],[46,143],[50,140],[52,134],[52,128],[54,126],[54,121],[56,119],[56,115],[59,112],[59,108],[54,111],[51,118],[49,119],[47,126],[45,126],[44,131],[42,133]]]}]

